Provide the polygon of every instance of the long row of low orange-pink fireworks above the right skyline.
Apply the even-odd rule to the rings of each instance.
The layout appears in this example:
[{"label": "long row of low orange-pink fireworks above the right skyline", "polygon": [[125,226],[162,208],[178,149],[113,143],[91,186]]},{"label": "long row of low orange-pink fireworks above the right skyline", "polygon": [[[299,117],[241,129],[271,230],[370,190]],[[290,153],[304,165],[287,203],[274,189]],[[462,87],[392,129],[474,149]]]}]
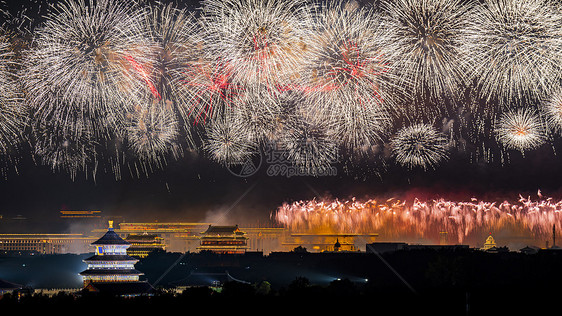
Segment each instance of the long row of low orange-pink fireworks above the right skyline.
[{"label": "long row of low orange-pink fireworks above the right skyline", "polygon": [[272,217],[297,232],[380,233],[437,240],[438,233],[444,231],[462,243],[472,234],[502,229],[546,238],[553,225],[562,224],[561,211],[562,201],[533,201],[521,196],[518,203],[476,199],[467,202],[415,199],[411,203],[394,199],[382,202],[336,199],[283,204]]}]

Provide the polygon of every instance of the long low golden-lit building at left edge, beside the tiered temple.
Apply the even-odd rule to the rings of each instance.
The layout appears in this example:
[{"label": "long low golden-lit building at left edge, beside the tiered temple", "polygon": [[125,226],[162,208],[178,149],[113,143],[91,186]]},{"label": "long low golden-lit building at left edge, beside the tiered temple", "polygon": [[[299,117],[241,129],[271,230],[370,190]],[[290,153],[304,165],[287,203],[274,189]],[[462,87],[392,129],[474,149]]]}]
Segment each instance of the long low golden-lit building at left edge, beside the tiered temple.
[{"label": "long low golden-lit building at left edge, beside the tiered temple", "polygon": [[48,255],[86,253],[94,240],[82,234],[0,234],[0,252]]}]

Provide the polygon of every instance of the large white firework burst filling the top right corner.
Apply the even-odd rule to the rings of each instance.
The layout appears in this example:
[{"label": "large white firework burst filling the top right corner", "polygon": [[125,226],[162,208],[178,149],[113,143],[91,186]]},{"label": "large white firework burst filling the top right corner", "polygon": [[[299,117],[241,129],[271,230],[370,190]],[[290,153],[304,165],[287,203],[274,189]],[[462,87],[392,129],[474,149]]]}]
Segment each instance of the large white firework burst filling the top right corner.
[{"label": "large white firework burst filling the top right corner", "polygon": [[462,49],[481,96],[497,101],[499,110],[513,100],[541,99],[561,73],[562,16],[555,2],[486,0],[472,11]]}]

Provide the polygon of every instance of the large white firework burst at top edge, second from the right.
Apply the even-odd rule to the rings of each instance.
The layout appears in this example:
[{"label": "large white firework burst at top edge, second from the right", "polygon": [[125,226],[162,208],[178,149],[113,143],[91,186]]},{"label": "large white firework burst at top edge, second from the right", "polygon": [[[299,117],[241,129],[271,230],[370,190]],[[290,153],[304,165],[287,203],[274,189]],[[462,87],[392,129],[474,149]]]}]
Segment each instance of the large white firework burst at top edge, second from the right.
[{"label": "large white firework burst at top edge, second from the right", "polygon": [[461,0],[384,0],[382,8],[401,84],[412,86],[416,97],[458,96],[465,85],[467,51],[461,47],[471,7]]}]

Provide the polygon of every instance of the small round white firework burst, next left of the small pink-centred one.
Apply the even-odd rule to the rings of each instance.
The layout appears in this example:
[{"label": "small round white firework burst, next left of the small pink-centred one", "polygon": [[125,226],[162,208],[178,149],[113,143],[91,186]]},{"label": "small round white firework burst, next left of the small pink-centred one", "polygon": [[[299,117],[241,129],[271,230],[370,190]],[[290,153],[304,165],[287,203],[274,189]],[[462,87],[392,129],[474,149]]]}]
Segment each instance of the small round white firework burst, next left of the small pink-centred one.
[{"label": "small round white firework burst, next left of the small pink-centred one", "polygon": [[401,166],[410,169],[435,169],[448,159],[448,140],[430,124],[403,127],[390,141],[392,155]]}]

